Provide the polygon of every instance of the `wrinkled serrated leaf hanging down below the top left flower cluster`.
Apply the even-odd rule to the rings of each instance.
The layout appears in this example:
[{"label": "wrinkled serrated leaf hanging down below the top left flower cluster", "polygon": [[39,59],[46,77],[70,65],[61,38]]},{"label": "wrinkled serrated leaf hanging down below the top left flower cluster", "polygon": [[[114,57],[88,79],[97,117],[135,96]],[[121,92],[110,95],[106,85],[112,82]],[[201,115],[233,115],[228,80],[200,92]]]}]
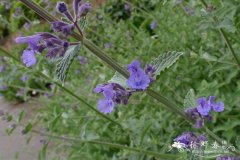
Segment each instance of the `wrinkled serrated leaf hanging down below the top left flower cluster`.
[{"label": "wrinkled serrated leaf hanging down below the top left flower cluster", "polygon": [[67,76],[68,69],[72,64],[72,60],[75,57],[76,53],[79,51],[79,49],[80,45],[70,46],[64,56],[59,59],[59,62],[56,66],[56,75],[60,81],[64,82]]}]

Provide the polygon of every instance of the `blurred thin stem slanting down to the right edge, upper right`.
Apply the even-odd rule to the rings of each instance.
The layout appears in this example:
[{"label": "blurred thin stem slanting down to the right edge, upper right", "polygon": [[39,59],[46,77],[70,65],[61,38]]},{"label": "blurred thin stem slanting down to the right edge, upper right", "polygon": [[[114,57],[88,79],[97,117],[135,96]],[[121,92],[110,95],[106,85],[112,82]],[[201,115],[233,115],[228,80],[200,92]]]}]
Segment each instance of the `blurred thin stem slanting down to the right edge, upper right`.
[{"label": "blurred thin stem slanting down to the right edge, upper right", "polygon": [[[207,7],[208,7],[207,3],[204,0],[200,0],[200,1],[202,2],[202,4],[205,7],[205,9],[207,9]],[[217,19],[216,16],[213,16],[213,21],[214,21],[214,23],[218,22],[218,19]],[[233,55],[234,59],[236,60],[236,62],[238,64],[238,66],[240,67],[240,61],[239,61],[239,59],[238,59],[238,57],[237,57],[237,55],[236,55],[236,53],[235,53],[235,51],[234,51],[234,49],[232,47],[232,44],[230,43],[230,41],[229,41],[229,39],[227,37],[227,34],[225,33],[225,31],[222,28],[218,29],[218,31],[222,35],[222,37],[223,37],[223,39],[224,39],[224,41],[225,41],[225,43],[226,43],[230,53]]]}]

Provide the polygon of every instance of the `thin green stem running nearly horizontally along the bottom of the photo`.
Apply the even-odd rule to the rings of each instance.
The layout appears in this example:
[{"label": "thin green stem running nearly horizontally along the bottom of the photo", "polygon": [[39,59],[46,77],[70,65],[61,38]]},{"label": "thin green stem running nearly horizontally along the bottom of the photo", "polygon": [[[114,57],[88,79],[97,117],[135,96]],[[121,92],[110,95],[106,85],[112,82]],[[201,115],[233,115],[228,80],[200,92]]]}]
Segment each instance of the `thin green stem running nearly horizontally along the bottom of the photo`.
[{"label": "thin green stem running nearly horizontally along the bottom of the photo", "polygon": [[81,139],[78,139],[78,138],[69,138],[69,137],[64,137],[64,136],[57,136],[57,135],[47,134],[47,133],[39,132],[39,131],[36,131],[36,130],[32,130],[32,132],[40,134],[42,136],[49,137],[49,138],[64,140],[64,141],[68,141],[68,142],[69,141],[73,141],[73,142],[78,142],[78,143],[89,143],[89,144],[97,144],[97,145],[109,146],[109,147],[112,147],[112,148],[129,150],[129,151],[132,151],[132,152],[138,152],[140,154],[151,155],[151,156],[164,158],[164,159],[169,159],[169,158],[170,159],[175,159],[175,158],[179,157],[177,155],[161,154],[159,152],[154,152],[154,151],[144,150],[144,149],[140,149],[140,148],[129,147],[129,146],[122,145],[122,144],[117,144],[117,143],[104,142],[104,141],[100,141],[100,140],[81,140]]}]

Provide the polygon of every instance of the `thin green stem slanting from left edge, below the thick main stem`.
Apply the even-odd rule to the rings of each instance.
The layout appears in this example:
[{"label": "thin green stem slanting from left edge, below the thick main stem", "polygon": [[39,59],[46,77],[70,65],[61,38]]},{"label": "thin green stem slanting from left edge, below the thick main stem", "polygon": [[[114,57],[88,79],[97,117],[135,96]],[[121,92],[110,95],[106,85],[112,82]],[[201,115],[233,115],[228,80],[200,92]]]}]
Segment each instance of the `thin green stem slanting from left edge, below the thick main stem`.
[{"label": "thin green stem slanting from left edge, below the thick main stem", "polygon": [[[0,52],[4,53],[4,55],[6,55],[7,57],[10,57],[12,58],[13,60],[15,60],[16,62],[22,64],[19,59],[17,59],[16,57],[14,57],[11,53],[3,50],[2,48],[0,48]],[[22,64],[23,65],[23,64]],[[24,65],[23,65],[24,66]],[[24,66],[25,67],[25,66]],[[27,69],[27,67],[25,67]],[[40,71],[37,71],[37,74],[38,76],[42,76],[42,77],[45,77],[46,79],[52,81],[52,78],[51,77],[48,77],[47,75],[43,74],[42,72]],[[59,82],[57,81],[53,81],[53,83],[55,85],[57,85],[59,88],[61,88],[62,90],[64,90],[65,92],[67,92],[68,94],[70,94],[71,96],[75,97],[77,100],[79,100],[80,102],[82,102],[83,104],[85,104],[88,108],[90,108],[91,110],[93,110],[94,112],[96,112],[99,116],[107,119],[108,121],[118,125],[121,127],[122,129],[122,125],[114,120],[112,120],[111,118],[109,118],[108,116],[106,116],[105,114],[99,112],[97,109],[95,109],[94,107],[92,107],[89,103],[87,103],[84,99],[82,99],[81,97],[79,97],[78,95],[76,95],[75,93],[73,93],[72,91],[70,91],[69,89],[65,88],[64,86],[62,86],[62,84],[60,84]]]}]

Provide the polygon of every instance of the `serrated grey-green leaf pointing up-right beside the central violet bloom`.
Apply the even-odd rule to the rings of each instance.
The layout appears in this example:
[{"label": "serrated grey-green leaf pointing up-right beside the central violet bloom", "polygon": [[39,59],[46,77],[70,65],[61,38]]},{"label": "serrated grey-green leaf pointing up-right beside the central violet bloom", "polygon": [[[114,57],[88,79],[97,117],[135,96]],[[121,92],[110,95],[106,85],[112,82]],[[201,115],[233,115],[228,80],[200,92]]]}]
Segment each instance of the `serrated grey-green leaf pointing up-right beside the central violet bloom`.
[{"label": "serrated grey-green leaf pointing up-right beside the central violet bloom", "polygon": [[156,68],[155,77],[160,75],[165,69],[171,67],[182,54],[182,52],[173,51],[159,55],[158,58],[154,59],[150,64]]}]

